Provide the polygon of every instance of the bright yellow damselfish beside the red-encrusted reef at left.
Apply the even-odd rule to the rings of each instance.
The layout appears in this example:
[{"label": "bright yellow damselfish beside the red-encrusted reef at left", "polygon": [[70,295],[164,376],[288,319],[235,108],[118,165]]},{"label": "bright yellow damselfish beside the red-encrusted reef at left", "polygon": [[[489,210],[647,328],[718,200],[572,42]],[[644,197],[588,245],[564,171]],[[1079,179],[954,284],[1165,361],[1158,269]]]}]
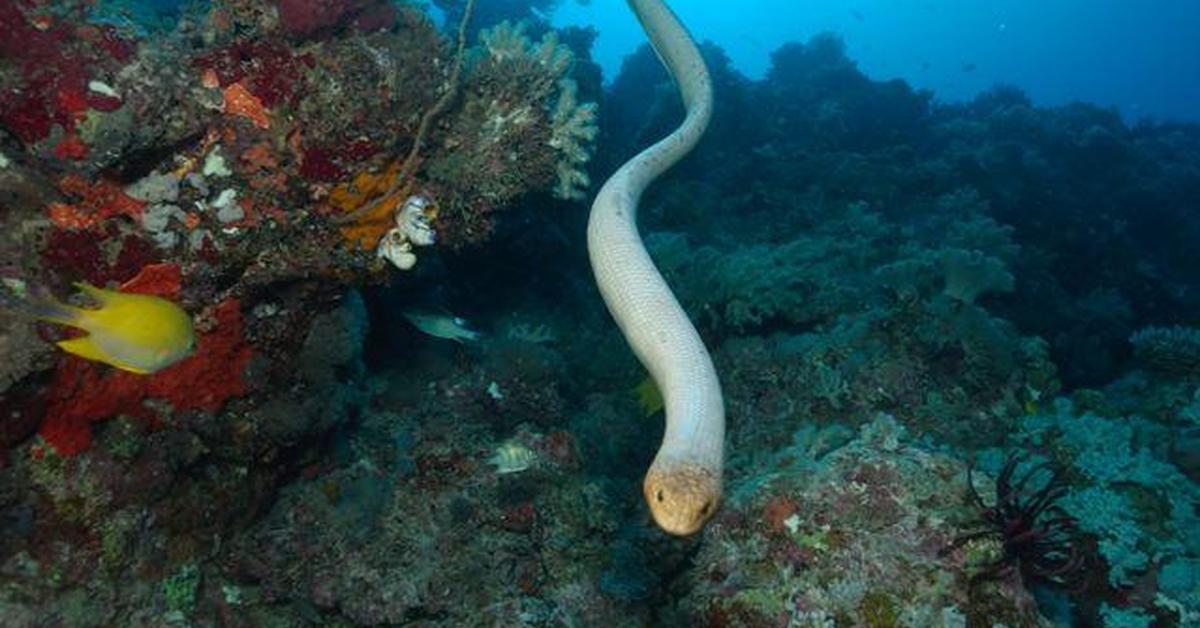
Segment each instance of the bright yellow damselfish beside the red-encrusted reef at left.
[{"label": "bright yellow damselfish beside the red-encrusted reef at left", "polygon": [[76,283],[98,304],[76,307],[54,300],[31,304],[32,315],[88,333],[58,345],[67,353],[124,371],[149,375],[186,358],[196,345],[192,318],[174,303],[148,294]]}]

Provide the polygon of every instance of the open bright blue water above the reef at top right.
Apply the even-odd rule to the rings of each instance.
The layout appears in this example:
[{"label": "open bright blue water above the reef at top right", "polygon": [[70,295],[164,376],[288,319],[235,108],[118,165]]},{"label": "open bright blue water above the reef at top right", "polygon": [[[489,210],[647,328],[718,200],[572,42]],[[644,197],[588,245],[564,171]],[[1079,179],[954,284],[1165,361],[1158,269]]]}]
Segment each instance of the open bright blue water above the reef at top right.
[{"label": "open bright blue water above the reef at top right", "polygon": [[[786,41],[840,34],[868,76],[941,101],[995,83],[1039,104],[1116,106],[1130,120],[1200,121],[1200,0],[674,0],[692,32],[760,77]],[[642,41],[622,0],[563,0],[556,24],[599,29],[611,79]]]}]

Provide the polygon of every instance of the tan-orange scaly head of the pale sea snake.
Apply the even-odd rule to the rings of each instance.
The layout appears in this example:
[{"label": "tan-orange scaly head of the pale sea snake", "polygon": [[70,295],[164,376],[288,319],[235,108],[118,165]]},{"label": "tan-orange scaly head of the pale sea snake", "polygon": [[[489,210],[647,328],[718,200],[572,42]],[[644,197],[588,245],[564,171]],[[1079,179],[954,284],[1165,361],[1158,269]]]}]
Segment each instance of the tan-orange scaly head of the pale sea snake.
[{"label": "tan-orange scaly head of the pale sea snake", "polygon": [[721,503],[720,473],[701,465],[654,463],[642,482],[654,522],[665,532],[686,537],[700,532]]}]

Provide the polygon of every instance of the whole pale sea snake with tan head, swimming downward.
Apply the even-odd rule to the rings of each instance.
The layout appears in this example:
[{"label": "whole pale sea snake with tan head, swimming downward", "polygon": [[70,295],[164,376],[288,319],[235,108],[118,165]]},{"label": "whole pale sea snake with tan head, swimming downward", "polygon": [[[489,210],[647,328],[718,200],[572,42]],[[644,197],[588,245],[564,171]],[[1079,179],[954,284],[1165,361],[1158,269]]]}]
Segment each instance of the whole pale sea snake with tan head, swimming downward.
[{"label": "whole pale sea snake with tan head, swimming downward", "polygon": [[643,492],[672,534],[698,531],[716,512],[725,463],[725,406],[700,334],[654,268],[637,233],[642,191],[700,140],[713,110],[708,68],[662,0],[628,0],[674,77],[686,116],[670,136],[625,162],[600,189],[588,220],[588,255],[600,294],[666,405],[666,430]]}]

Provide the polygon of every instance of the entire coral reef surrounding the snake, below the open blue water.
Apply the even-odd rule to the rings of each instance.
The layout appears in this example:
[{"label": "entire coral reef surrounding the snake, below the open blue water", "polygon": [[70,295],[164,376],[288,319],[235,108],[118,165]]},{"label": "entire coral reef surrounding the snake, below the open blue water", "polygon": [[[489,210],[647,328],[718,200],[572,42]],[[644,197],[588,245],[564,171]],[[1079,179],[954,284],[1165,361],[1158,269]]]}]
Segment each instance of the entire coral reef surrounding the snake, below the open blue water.
[{"label": "entire coral reef surrounding the snake, below the open blue water", "polygon": [[674,83],[433,4],[0,4],[0,626],[1200,624],[1200,127],[701,44],[641,202],[727,415],[674,537],[584,245]]}]

